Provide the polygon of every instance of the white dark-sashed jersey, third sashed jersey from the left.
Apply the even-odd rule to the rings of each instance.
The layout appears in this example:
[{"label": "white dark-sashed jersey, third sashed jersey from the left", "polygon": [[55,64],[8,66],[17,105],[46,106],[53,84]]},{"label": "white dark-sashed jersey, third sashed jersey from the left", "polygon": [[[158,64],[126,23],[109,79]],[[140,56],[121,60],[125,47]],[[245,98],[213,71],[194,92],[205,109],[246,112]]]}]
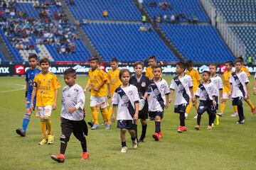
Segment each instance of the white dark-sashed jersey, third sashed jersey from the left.
[{"label": "white dark-sashed jersey, third sashed jersey from the left", "polygon": [[193,81],[190,76],[184,75],[181,78],[178,76],[171,80],[170,89],[175,91],[174,105],[181,105],[189,103],[191,98],[190,88],[193,88]]}]

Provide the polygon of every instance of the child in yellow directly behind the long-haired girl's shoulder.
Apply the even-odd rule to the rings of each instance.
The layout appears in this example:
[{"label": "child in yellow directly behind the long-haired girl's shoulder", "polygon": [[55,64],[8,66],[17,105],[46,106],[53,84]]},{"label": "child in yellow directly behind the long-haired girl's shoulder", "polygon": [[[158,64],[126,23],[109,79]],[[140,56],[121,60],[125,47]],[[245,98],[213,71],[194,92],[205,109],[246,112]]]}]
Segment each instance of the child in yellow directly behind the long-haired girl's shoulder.
[{"label": "child in yellow directly behind the long-haired girl's shoulder", "polygon": [[[107,78],[110,80],[110,94],[113,96],[115,89],[119,87],[122,84],[122,81],[119,79],[119,72],[120,70],[118,69],[118,60],[117,58],[112,58],[111,60],[111,68],[109,72],[107,72]],[[112,115],[112,109],[113,107],[110,107],[109,110],[109,116],[111,117]]]}]

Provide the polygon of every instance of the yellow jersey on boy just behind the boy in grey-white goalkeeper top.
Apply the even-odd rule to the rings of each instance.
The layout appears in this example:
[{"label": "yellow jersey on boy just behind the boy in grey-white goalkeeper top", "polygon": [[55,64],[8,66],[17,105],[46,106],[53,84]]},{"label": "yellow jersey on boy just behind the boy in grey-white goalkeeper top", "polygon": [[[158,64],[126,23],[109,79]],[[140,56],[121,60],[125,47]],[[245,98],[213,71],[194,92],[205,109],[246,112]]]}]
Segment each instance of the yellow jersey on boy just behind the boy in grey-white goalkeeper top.
[{"label": "yellow jersey on boy just behind the boy in grey-white goalkeeper top", "polygon": [[88,79],[87,84],[90,84],[91,96],[95,96],[95,97],[107,96],[107,88],[106,88],[107,83],[105,85],[101,86],[99,91],[94,90],[94,87],[99,86],[102,83],[102,81],[107,80],[107,74],[105,74],[103,72],[103,70],[100,68],[97,68],[94,71],[92,71],[92,69],[90,69],[88,74],[89,74],[89,79]]}]

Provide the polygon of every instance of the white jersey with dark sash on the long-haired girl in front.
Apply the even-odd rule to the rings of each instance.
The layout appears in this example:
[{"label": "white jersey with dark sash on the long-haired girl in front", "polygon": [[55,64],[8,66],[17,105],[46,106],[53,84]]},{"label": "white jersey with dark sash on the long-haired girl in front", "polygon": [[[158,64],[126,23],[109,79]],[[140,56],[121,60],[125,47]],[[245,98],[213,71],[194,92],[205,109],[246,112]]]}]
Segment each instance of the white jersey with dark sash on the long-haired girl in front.
[{"label": "white jersey with dark sash on the long-haired girl in front", "polygon": [[114,91],[112,97],[112,105],[117,106],[117,120],[133,120],[132,115],[129,113],[129,101],[132,103],[132,107],[135,110],[134,103],[139,103],[139,93],[136,86],[129,84],[129,86],[121,89],[124,91],[125,95],[121,96],[119,93],[119,88]]}]

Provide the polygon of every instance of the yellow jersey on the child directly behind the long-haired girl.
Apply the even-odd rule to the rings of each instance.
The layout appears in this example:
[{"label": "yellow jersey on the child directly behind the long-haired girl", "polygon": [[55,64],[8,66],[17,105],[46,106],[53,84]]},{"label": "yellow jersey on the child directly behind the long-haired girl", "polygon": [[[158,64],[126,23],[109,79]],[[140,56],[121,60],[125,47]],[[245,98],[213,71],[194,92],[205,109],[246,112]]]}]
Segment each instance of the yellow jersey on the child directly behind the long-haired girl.
[{"label": "yellow jersey on the child directly behind the long-haired girl", "polygon": [[110,93],[114,94],[115,89],[119,87],[122,84],[122,81],[119,79],[119,69],[115,69],[114,71],[110,69],[109,72],[107,72],[107,77],[110,80]]}]

